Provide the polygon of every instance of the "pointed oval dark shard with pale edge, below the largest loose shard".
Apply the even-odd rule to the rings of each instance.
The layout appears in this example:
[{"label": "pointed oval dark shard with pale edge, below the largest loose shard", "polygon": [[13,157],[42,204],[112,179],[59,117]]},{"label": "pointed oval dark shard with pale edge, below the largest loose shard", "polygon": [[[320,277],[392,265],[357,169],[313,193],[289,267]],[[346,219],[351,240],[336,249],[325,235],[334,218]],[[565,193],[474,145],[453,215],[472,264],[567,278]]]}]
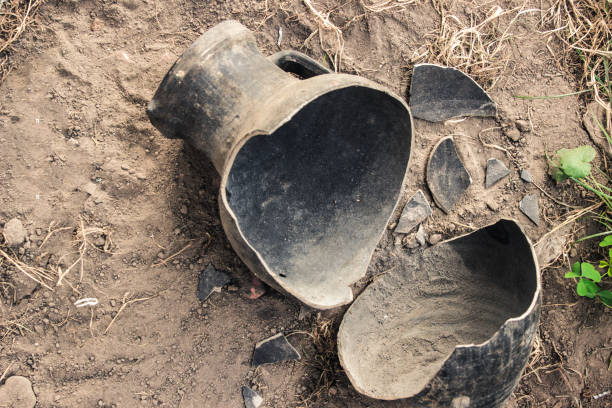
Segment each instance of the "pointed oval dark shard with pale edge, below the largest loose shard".
[{"label": "pointed oval dark shard with pale edge, below the largest loose shard", "polygon": [[455,148],[452,136],[434,147],[427,163],[427,185],[436,204],[448,213],[472,184]]}]

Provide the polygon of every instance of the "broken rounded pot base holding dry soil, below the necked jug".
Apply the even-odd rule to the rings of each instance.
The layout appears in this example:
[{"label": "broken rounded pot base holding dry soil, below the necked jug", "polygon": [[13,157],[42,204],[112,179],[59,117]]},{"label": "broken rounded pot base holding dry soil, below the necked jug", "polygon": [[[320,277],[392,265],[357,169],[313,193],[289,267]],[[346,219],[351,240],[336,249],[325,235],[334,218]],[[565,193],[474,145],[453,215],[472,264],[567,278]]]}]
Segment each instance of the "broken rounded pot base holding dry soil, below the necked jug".
[{"label": "broken rounded pot base holding dry soil, below the necked jug", "polygon": [[501,407],[540,314],[538,264],[520,227],[501,220],[397,262],[340,325],[353,386],[407,406]]}]

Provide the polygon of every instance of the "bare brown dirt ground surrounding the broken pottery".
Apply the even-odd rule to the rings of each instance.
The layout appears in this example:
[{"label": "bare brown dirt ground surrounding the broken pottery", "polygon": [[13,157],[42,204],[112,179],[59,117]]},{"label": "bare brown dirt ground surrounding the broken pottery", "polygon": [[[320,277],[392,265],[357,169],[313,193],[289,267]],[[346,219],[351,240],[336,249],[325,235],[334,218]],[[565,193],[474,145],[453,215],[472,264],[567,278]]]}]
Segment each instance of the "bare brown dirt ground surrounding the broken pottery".
[{"label": "bare brown dirt ground surrounding the broken pottery", "polygon": [[[482,16],[498,3],[504,10],[546,7],[539,0],[449,5],[468,21],[469,13]],[[432,3],[383,11],[350,0],[313,4],[331,11],[342,27],[340,70],[407,98],[413,55],[439,24]],[[247,298],[249,271],[219,220],[219,176],[182,141],[161,136],[146,117],[146,104],[175,59],[226,19],[249,27],[266,54],[297,49],[320,61],[333,59],[333,34],[321,28],[320,42],[317,18],[298,0],[48,0],[17,44],[15,68],[0,85],[0,226],[19,218],[28,241],[14,256],[64,271],[78,258],[73,244],[81,223],[103,229],[87,237],[82,271],[75,267],[53,291],[0,262],[0,374],[8,368],[7,376],[29,378],[37,407],[241,407],[242,385],[254,385],[265,407],[402,406],[360,396],[340,369],[334,333],[344,309],[313,313],[273,290]],[[574,75],[559,63],[559,44],[545,30],[540,11],[521,14],[513,25],[509,63],[490,90],[498,118],[415,121],[398,208],[419,188],[428,194],[425,164],[441,137],[454,136],[473,179],[449,215],[434,208],[425,223],[428,234],[449,238],[510,217],[538,242],[568,208],[523,182],[522,168],[558,200],[588,204],[576,188],[551,183],[545,159],[546,152],[589,143],[584,102],[578,96],[514,98],[577,90]],[[517,120],[529,122],[529,129],[513,141],[501,128]],[[511,174],[485,190],[490,157],[502,159]],[[539,196],[539,227],[519,211],[527,193]],[[41,247],[52,230],[57,232]],[[574,232],[585,230],[576,225]],[[380,246],[395,240],[389,229]],[[368,278],[386,270],[379,252]],[[601,304],[578,299],[563,279],[567,262],[579,257],[572,250],[542,270],[536,347],[509,407],[612,406],[612,396],[593,399],[612,389],[612,315]],[[198,275],[209,263],[231,272],[234,282],[201,302]],[[86,297],[99,304],[73,305]],[[289,335],[302,360],[253,369],[254,344],[276,332]]]}]

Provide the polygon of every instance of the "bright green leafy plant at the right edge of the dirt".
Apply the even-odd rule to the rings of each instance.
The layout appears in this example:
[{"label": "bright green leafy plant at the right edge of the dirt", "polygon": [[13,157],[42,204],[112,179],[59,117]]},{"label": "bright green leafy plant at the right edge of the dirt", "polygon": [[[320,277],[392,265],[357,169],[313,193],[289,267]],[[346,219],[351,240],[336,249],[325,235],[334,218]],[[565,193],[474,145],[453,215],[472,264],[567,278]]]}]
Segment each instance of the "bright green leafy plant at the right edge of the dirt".
[{"label": "bright green leafy plant at the right edge of the dirt", "polygon": [[[607,136],[607,135],[606,135]],[[591,162],[595,158],[595,149],[591,146],[580,146],[575,149],[560,149],[553,159],[548,158],[550,163],[550,175],[557,181],[572,180],[587,190],[594,193],[605,204],[606,210],[597,216],[597,220],[605,226],[602,233],[584,237],[584,239],[603,236],[599,243],[601,248],[612,246],[612,219],[608,217],[608,210],[612,210],[612,189],[600,183],[591,173]],[[600,171],[601,172],[601,171]],[[605,175],[605,173],[601,172]],[[605,175],[607,177],[607,175]],[[608,180],[610,180],[608,178]],[[604,278],[612,278],[612,248],[608,248],[608,256],[599,262],[598,267],[605,269],[600,274],[595,266],[589,262],[576,262],[572,265],[572,270],[565,274],[566,278],[578,279],[576,293],[591,299],[599,299],[603,304],[612,307],[612,292],[602,289],[598,284],[602,284]]]}]

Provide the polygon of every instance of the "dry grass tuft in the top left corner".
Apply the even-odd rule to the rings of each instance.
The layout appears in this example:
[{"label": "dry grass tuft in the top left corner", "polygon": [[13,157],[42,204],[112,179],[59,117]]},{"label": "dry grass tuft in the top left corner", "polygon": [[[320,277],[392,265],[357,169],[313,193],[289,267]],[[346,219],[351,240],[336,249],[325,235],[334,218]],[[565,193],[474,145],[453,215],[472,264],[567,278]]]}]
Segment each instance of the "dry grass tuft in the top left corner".
[{"label": "dry grass tuft in the top left corner", "polygon": [[43,0],[0,0],[0,83],[10,71],[9,52],[32,23]]}]

